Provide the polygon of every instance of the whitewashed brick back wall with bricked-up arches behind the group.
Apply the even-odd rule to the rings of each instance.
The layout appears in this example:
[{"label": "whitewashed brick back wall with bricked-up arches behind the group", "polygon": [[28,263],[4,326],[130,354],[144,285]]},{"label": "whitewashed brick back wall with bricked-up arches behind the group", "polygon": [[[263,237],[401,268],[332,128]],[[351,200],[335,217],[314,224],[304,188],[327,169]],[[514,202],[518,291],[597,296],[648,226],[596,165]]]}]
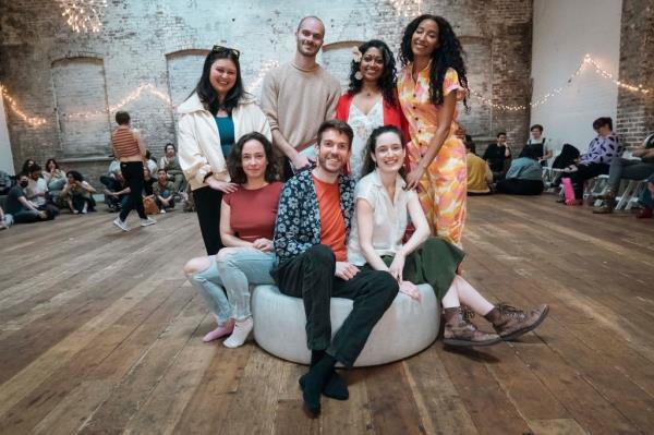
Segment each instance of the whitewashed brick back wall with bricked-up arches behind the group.
[{"label": "whitewashed brick back wall with bricked-up arches behind the group", "polygon": [[[58,3],[51,0],[1,2],[0,82],[8,86],[22,110],[47,120],[46,124],[32,128],[11,109],[7,110],[14,166],[20,168],[27,157],[40,162],[49,157],[70,158],[75,153],[106,157],[110,131],[99,125],[112,125],[113,112],[88,122],[76,122],[74,129],[68,125],[63,113],[88,110],[93,101],[102,99],[111,107],[146,83],[172,96],[177,104],[197,82],[206,52],[203,50],[214,44],[241,49],[243,76],[250,85],[255,83],[266,62],[286,62],[292,58],[293,32],[303,15],[323,17],[327,27],[326,43],[348,51],[349,44],[338,43],[376,37],[386,40],[397,52],[402,29],[411,20],[411,16],[398,15],[387,0],[334,0],[319,4],[289,0],[277,2],[272,8],[269,1],[254,3],[259,5],[244,5],[239,0],[219,3],[112,0],[108,2],[101,32],[81,35],[66,26]],[[426,0],[422,2],[422,12],[444,15],[452,23],[468,52],[469,80],[474,90],[495,102],[526,101],[531,1]],[[75,94],[70,87],[78,86],[78,80],[66,82],[57,75],[59,65],[74,67],[75,61],[65,59],[77,57],[101,60],[104,85],[95,77]],[[327,51],[325,63],[338,73],[347,69],[337,62],[344,58],[343,53]],[[74,76],[74,68],[69,71]],[[65,88],[66,83],[69,88]],[[98,96],[102,86],[106,95]],[[253,92],[258,94],[258,88]],[[58,104],[65,95],[80,98],[71,97],[65,104]],[[511,142],[522,143],[526,138],[528,111],[491,110],[474,97],[470,105],[471,112],[461,110],[460,120],[477,142],[494,137],[499,129],[508,130]],[[156,156],[161,155],[167,142],[174,142],[173,110],[160,99],[144,93],[124,109],[132,113],[133,125],[143,132]],[[95,137],[89,153],[75,152],[74,144],[69,143],[75,140],[69,135],[71,129],[83,138],[78,147]],[[74,167],[92,180],[106,166],[105,160],[66,162],[66,168]]]}]

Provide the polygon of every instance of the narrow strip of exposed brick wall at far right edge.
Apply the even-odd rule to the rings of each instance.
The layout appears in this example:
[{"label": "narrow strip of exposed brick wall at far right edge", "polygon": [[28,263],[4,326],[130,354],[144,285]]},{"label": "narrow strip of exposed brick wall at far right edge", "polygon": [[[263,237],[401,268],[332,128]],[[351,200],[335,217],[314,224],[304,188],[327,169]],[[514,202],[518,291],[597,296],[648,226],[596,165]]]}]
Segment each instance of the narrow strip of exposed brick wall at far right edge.
[{"label": "narrow strip of exposed brick wall at far right edge", "polygon": [[[620,81],[654,89],[654,3],[622,0]],[[654,92],[618,92],[616,133],[627,145],[638,145],[654,132]]]}]

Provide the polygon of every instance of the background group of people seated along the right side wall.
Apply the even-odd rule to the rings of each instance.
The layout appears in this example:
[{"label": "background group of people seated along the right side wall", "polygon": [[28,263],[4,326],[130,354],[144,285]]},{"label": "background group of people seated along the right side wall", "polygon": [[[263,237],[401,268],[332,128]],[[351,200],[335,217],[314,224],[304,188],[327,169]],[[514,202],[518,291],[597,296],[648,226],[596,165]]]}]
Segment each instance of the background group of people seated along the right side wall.
[{"label": "background group of people seated along the right side wall", "polygon": [[[570,144],[565,144],[561,153],[554,160],[552,168],[560,171],[557,183],[562,183],[565,197],[559,202],[568,205],[583,203],[583,190],[586,180],[601,174],[608,176],[608,186],[595,198],[603,200],[603,205],[593,210],[595,214],[613,213],[621,180],[647,180],[639,195],[641,206],[638,218],[650,218],[653,215],[652,191],[654,190],[654,134],[650,134],[639,146],[626,148],[613,131],[613,120],[602,117],[593,122],[597,133],[585,154]],[[507,144],[504,132],[497,134],[497,142],[488,145],[483,157],[479,157],[470,135],[463,142],[468,148],[468,193],[469,195],[486,195],[492,192],[513,195],[538,195],[544,189],[543,167],[553,157],[552,146],[543,137],[543,126],[532,125],[532,137],[522,148],[518,158]],[[622,158],[625,149],[629,149],[633,158]]]}]

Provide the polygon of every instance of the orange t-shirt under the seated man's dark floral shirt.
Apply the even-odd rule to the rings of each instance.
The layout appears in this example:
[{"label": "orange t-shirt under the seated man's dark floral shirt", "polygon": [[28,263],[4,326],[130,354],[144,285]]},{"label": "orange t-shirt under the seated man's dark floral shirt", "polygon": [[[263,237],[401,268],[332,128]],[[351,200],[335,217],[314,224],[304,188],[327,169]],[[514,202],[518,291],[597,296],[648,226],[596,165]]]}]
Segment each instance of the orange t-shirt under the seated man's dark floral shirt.
[{"label": "orange t-shirt under the seated man's dark floral shirt", "polygon": [[326,183],[313,177],[320,209],[320,243],[331,247],[337,262],[348,259],[346,220],[340,208],[338,183]]}]

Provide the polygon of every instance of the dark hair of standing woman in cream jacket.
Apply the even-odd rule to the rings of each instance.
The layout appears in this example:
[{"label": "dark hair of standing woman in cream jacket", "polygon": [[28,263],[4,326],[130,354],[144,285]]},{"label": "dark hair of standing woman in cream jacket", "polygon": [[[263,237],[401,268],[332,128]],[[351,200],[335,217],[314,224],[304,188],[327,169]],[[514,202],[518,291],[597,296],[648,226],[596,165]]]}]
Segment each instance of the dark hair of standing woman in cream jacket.
[{"label": "dark hair of standing woman in cream jacket", "polygon": [[[227,93],[222,104],[218,100],[218,93],[216,89],[214,89],[214,86],[211,86],[211,82],[209,81],[211,65],[218,59],[229,59],[234,62],[234,65],[237,67],[237,82],[234,83],[234,86]],[[243,86],[243,81],[241,80],[241,64],[239,63],[239,58],[233,50],[209,51],[205,59],[205,63],[202,67],[202,76],[199,77],[194,92],[197,93],[197,96],[205,106],[205,109],[210,111],[211,114],[216,114],[219,109],[222,109],[231,114],[232,110],[239,105],[239,100],[246,94]]]}]

